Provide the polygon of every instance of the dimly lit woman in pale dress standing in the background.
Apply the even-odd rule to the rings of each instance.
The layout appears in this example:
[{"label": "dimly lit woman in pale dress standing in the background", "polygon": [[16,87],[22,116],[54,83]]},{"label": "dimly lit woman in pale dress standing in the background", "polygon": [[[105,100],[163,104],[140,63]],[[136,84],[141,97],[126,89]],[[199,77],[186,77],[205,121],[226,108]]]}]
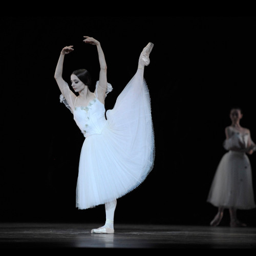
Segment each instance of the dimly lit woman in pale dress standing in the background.
[{"label": "dimly lit woman in pale dress standing in the background", "polygon": [[240,108],[230,110],[231,125],[225,128],[224,148],[228,151],[222,157],[211,183],[207,202],[218,207],[211,226],[218,226],[225,208],[229,209],[230,226],[244,227],[237,218],[237,209],[255,208],[252,174],[249,158],[256,146],[251,140],[250,130],[240,125],[243,117]]}]

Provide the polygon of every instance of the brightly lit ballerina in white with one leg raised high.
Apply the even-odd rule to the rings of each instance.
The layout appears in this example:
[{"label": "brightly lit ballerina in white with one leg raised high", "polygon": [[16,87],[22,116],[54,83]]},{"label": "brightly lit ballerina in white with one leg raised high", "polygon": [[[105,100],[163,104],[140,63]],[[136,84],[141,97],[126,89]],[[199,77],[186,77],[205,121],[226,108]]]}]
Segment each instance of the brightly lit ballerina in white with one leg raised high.
[{"label": "brightly lit ballerina in white with one leg raised high", "polygon": [[64,57],[74,51],[64,47],[54,78],[60,89],[60,102],[72,112],[85,137],[79,160],[76,207],[88,209],[105,205],[105,224],[92,233],[114,233],[117,199],[140,185],[151,172],[155,159],[151,101],[144,80],[144,67],[150,63],[154,44],[149,42],[139,56],[136,74],[116,99],[114,108],[105,112],[105,97],[113,88],[107,81],[106,61],[100,42],[84,36],[86,44],[98,51],[100,72],[95,91],[86,69],[71,74],[71,87],[62,78]]}]

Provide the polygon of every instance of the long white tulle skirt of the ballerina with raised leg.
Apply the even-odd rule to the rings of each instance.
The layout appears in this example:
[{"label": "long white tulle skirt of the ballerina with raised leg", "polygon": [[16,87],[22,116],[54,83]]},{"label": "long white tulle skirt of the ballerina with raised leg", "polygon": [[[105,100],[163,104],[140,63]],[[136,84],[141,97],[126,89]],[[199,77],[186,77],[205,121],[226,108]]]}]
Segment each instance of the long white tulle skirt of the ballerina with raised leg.
[{"label": "long white tulle skirt of the ballerina with raised leg", "polygon": [[138,70],[118,96],[101,134],[82,145],[76,207],[87,209],[111,202],[136,188],[154,165],[151,102]]}]

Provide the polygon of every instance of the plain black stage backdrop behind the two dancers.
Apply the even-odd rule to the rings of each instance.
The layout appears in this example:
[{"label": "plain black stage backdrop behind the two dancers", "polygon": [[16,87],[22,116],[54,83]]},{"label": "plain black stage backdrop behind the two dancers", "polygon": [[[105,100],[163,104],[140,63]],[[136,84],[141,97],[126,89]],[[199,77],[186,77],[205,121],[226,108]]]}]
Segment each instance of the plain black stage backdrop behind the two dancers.
[{"label": "plain black stage backdrop behind the two dancers", "polygon": [[[59,53],[63,78],[79,68],[98,80],[101,42],[114,90],[106,109],[155,44],[144,77],[151,95],[155,163],[146,180],[118,199],[115,222],[209,225],[217,208],[206,202],[225,153],[229,110],[256,141],[255,17],[2,17],[0,221],[104,222],[104,206],[75,207],[83,135],[59,102],[54,79]],[[256,189],[256,153],[249,156]],[[256,190],[255,190],[256,191]],[[228,225],[228,212],[222,225]],[[256,210],[238,216],[256,225]]]}]

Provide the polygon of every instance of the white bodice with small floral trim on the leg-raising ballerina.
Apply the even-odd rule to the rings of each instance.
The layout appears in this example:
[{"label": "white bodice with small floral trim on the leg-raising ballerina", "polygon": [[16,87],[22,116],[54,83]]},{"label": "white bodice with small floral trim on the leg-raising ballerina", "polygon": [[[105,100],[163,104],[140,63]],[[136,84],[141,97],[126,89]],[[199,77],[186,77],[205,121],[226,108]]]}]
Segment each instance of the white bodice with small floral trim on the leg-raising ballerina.
[{"label": "white bodice with small floral trim on the leg-raising ballerina", "polygon": [[84,137],[101,134],[106,123],[105,106],[97,98],[87,106],[75,106],[74,120]]}]

